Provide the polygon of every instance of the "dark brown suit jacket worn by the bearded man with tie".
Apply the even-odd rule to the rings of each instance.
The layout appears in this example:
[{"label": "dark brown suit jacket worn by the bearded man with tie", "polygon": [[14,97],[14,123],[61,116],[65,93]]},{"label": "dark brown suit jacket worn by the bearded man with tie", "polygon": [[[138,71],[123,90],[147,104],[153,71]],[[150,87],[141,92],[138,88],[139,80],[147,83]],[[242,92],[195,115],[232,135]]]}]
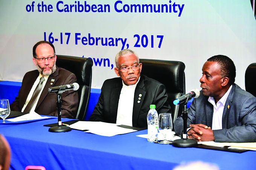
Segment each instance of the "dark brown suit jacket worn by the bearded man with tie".
[{"label": "dark brown suit jacket worn by the bearded man with tie", "polygon": [[[26,102],[27,96],[29,95],[30,89],[32,88],[38,76],[38,70],[29,71],[25,74],[22,80],[22,85],[18,93],[18,96],[15,98],[15,101],[11,104],[12,111],[21,111]],[[51,80],[54,80],[54,82]],[[56,93],[48,93],[48,88],[53,86],[72,84],[74,82],[76,82],[75,74],[63,68],[57,67],[56,71],[49,76],[46,82],[46,85],[41,93],[41,96],[35,108],[35,112],[40,115],[57,116],[57,95]],[[70,90],[62,93],[61,100],[61,117],[74,118],[76,116],[78,109],[77,91]]]}]

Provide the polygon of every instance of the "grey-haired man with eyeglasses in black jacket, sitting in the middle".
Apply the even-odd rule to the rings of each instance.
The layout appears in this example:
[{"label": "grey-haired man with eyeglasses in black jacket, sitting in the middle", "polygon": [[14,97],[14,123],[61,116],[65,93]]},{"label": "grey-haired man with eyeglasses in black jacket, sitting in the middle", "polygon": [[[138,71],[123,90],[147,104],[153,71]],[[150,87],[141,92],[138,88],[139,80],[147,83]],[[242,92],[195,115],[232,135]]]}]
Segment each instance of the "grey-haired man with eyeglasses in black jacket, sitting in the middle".
[{"label": "grey-haired man with eyeglasses in black jacket, sitting in the middle", "polygon": [[140,75],[142,63],[135,52],[125,49],[117,53],[117,78],[105,80],[99,101],[90,121],[147,127],[149,106],[158,113],[171,113],[165,86],[154,79]]}]

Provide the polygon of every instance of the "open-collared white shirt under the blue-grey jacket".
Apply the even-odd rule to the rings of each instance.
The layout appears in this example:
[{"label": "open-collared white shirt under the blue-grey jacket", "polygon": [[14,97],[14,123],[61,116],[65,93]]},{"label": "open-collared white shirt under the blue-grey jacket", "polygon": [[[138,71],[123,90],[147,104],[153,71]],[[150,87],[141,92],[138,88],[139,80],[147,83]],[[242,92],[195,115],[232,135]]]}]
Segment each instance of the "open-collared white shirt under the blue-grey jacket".
[{"label": "open-collared white shirt under the blue-grey jacket", "polygon": [[222,115],[231,88],[232,85],[229,87],[229,90],[224,94],[224,96],[221,97],[221,99],[216,104],[213,97],[209,97],[208,99],[208,101],[213,105],[212,130],[222,129]]}]

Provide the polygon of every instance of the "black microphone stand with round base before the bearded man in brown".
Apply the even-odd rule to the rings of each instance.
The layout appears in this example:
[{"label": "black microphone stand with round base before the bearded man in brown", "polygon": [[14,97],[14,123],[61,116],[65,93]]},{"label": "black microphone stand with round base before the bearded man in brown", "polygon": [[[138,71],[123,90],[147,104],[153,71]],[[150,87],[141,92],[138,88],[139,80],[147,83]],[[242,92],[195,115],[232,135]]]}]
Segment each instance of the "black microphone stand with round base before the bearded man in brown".
[{"label": "black microphone stand with round base before the bearded man in brown", "polygon": [[57,94],[57,111],[58,111],[58,126],[53,126],[49,128],[49,132],[69,132],[71,131],[71,128],[68,126],[62,126],[61,122],[61,94],[66,91],[66,89],[63,87],[61,88]]}]

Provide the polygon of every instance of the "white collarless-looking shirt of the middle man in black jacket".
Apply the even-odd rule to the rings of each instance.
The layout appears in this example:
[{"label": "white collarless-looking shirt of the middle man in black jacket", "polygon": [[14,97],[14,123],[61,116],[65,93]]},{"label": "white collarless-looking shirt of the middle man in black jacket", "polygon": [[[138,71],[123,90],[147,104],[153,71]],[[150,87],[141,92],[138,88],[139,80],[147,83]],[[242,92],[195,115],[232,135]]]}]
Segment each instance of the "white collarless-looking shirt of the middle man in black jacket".
[{"label": "white collarless-looking shirt of the middle man in black jacket", "polygon": [[[139,77],[140,80],[140,77]],[[120,93],[116,123],[127,126],[133,126],[133,101],[135,88],[139,80],[134,85],[126,86],[123,83],[123,87]]]}]

